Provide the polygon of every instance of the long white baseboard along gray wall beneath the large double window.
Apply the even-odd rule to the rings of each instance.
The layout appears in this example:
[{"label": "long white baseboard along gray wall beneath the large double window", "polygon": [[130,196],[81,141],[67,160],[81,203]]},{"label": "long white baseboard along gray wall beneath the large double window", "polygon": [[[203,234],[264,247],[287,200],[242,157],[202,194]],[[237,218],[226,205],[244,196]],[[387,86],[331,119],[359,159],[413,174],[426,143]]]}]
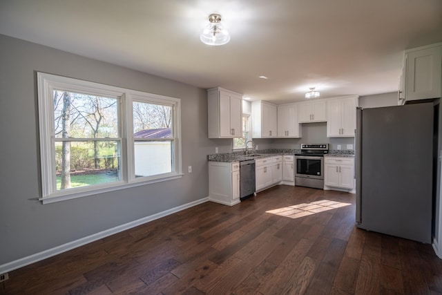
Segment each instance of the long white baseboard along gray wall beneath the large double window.
[{"label": "long white baseboard along gray wall beneath the large double window", "polygon": [[198,204],[202,204],[207,201],[209,201],[209,197],[202,198],[200,200],[196,200],[196,201],[193,201],[193,202],[190,202],[190,203],[187,203],[187,204],[184,204],[184,205],[181,205],[181,206],[178,206],[178,207],[166,210],[166,211],[162,211],[160,213],[155,213],[151,216],[146,216],[144,218],[140,218],[138,220],[134,220],[134,221],[125,223],[124,225],[119,225],[117,227],[113,227],[112,229],[106,229],[105,231],[100,231],[97,234],[92,234],[90,236],[86,236],[84,238],[74,240],[72,242],[67,242],[64,245],[59,245],[57,247],[53,247],[51,249],[41,251],[39,253],[32,254],[30,256],[26,256],[26,257],[11,261],[10,263],[0,265],[0,274],[5,274],[7,272],[11,272],[14,269],[18,269],[20,267],[24,267],[24,266],[30,265],[32,263],[36,263],[40,260],[44,260],[46,258],[64,253],[66,251],[86,245],[90,242],[94,242],[95,240],[106,238],[107,236],[112,236],[113,234],[117,234],[121,231],[125,231],[126,229],[131,229],[133,227],[137,227],[138,225],[143,225],[146,222],[150,222],[155,219],[171,215],[171,214],[176,213],[178,211],[188,209],[190,207],[196,206]]}]

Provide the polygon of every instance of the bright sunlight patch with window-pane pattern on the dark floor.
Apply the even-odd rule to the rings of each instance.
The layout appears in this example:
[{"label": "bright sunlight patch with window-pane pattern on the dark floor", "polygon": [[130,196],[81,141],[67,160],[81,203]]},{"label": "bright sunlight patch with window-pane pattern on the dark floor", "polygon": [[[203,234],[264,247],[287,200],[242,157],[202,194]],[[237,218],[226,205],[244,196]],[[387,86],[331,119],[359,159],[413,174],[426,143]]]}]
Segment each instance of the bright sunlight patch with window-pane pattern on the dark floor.
[{"label": "bright sunlight patch with window-pane pattern on the dark floor", "polygon": [[323,211],[328,211],[340,207],[345,207],[351,205],[350,203],[336,202],[330,200],[320,200],[316,202],[311,202],[308,204],[296,204],[289,207],[283,207],[279,209],[269,210],[266,213],[272,213],[279,216],[285,216],[289,218],[300,218],[303,216],[309,216],[314,213],[320,213]]}]

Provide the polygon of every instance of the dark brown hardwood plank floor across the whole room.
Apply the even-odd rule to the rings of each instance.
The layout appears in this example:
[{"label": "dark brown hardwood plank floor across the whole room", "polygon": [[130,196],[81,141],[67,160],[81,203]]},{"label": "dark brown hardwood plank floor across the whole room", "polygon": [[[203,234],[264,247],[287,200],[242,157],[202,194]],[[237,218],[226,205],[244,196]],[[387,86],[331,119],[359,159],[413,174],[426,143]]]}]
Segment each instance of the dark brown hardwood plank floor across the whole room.
[{"label": "dark brown hardwood plank floor across the whole room", "polygon": [[9,273],[0,294],[442,294],[430,245],[356,229],[355,196],[206,202]]}]

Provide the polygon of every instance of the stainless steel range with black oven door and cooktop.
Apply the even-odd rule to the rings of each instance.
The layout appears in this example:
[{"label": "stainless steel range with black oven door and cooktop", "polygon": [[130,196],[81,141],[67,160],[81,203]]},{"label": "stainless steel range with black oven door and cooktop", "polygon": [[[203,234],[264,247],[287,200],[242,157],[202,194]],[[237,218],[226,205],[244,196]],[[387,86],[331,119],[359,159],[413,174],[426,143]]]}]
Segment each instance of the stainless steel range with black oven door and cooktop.
[{"label": "stainless steel range with black oven door and cooktop", "polygon": [[295,154],[295,185],[324,188],[324,155],[329,144],[301,144],[300,153]]}]

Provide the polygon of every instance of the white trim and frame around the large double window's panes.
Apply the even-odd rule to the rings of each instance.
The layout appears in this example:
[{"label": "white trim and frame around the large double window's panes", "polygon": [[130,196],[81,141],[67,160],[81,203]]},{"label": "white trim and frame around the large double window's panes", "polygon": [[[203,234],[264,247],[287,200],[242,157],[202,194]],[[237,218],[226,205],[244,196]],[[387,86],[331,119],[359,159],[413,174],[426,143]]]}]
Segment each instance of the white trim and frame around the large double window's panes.
[{"label": "white trim and frame around the large double window's panes", "polygon": [[[41,157],[41,193],[39,198],[43,204],[70,200],[91,196],[108,191],[117,191],[128,187],[137,187],[144,184],[162,182],[182,178],[182,146],[181,146],[181,99],[155,95],[142,91],[108,86],[95,82],[37,73],[38,106],[39,106],[39,133],[40,133],[40,157]],[[109,184],[97,184],[93,187],[78,187],[66,191],[57,191],[55,180],[55,146],[52,144],[54,134],[54,106],[52,103],[53,90],[90,93],[93,95],[113,97],[119,99],[119,124],[120,126],[120,149],[122,179]],[[150,177],[135,178],[134,164],[134,140],[133,140],[133,117],[132,103],[153,102],[158,104],[173,104],[173,144],[176,146],[173,155],[173,171]]]}]

